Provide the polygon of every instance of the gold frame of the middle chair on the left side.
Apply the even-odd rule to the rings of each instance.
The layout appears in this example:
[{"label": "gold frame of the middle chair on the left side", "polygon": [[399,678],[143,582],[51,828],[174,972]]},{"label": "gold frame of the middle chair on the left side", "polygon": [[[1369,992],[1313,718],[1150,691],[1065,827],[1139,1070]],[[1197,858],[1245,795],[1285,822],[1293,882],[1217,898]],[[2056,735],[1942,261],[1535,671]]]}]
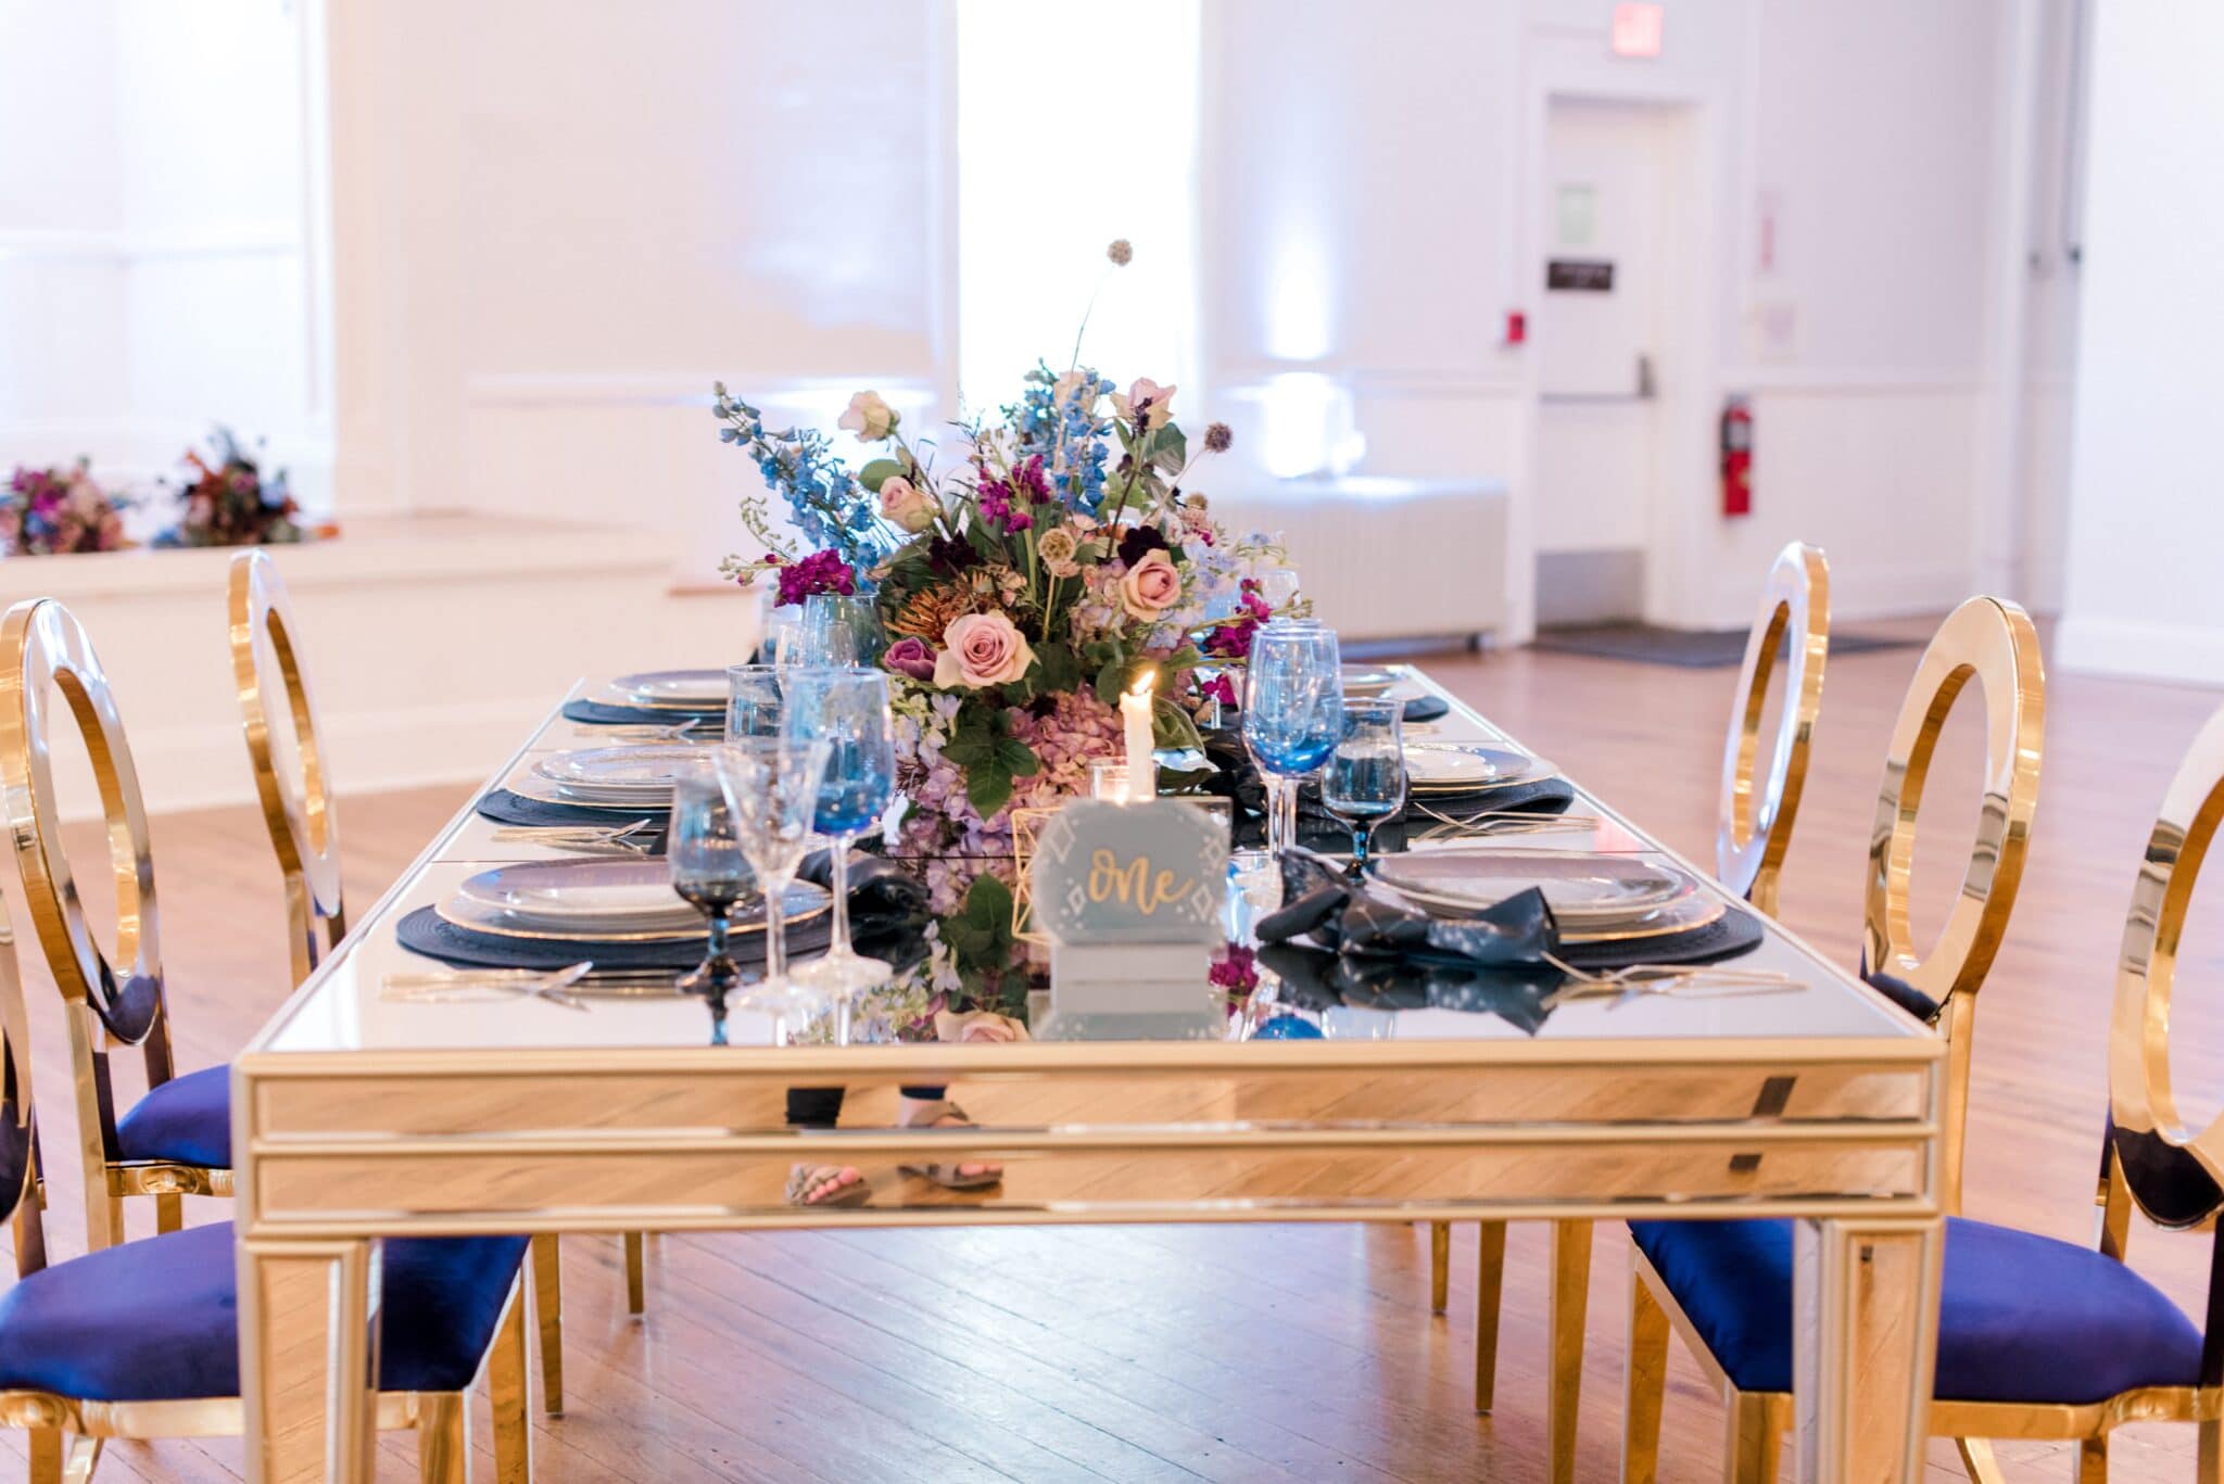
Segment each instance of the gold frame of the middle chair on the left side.
[{"label": "gold frame of the middle chair on the left side", "polygon": [[[93,941],[60,837],[49,728],[60,699],[91,754],[116,881],[116,952]],[[116,1137],[109,1048],[138,1046],[147,1086],[176,1075],[138,770],[91,641],[53,598],[18,603],[0,623],[0,788],[24,906],[62,992],[85,1164],[85,1239],[122,1241],[122,1197],[156,1199],[156,1230],[178,1230],[187,1195],[231,1195],[231,1170],[127,1161]],[[118,968],[120,966],[120,968]]]}]

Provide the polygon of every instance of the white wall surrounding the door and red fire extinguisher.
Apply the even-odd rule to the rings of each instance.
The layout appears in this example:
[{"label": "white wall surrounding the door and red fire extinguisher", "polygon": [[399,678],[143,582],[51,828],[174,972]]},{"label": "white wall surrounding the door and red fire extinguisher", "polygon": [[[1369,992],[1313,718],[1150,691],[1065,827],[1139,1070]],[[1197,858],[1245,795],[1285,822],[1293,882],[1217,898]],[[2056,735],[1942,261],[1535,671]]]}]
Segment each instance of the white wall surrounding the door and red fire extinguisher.
[{"label": "white wall surrounding the door and red fire extinguisher", "polygon": [[[1370,474],[1515,489],[1530,587],[1532,349],[1501,316],[1541,285],[1548,98],[1644,98],[1695,120],[1706,218],[1699,385],[1666,385],[1650,616],[1735,625],[1788,538],[1835,563],[1841,614],[1946,607],[1975,563],[1993,276],[1995,53],[2008,0],[1668,4],[1655,60],[1610,56],[1608,0],[1381,9],[1228,0],[1205,31],[1208,380],[1346,383]],[[1761,198],[1779,207],[1755,265]],[[1788,347],[1757,311],[1788,311]],[[1715,514],[1719,392],[1755,394],[1755,514]],[[1257,418],[1239,421],[1239,432]],[[1908,541],[1922,532],[1922,541]],[[1641,541],[1641,536],[1639,536]]]}]

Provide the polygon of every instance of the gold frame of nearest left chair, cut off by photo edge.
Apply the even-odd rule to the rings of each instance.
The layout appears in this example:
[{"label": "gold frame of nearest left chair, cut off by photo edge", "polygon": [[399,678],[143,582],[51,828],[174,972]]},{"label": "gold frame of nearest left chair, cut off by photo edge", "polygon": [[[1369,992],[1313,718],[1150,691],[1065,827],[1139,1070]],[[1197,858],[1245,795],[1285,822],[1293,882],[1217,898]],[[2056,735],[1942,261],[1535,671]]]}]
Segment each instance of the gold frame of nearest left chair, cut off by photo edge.
[{"label": "gold frame of nearest left chair, cut off by photo edge", "polygon": [[[0,1170],[20,1166],[20,1181],[0,1188],[0,1217],[13,1215],[16,1277],[47,1266],[40,1217],[38,1121],[31,1104],[31,1055],[16,963],[16,937],[0,903]],[[509,1286],[494,1339],[471,1377],[485,1379],[494,1402],[494,1473],[500,1484],[532,1480],[532,1426],[525,1417],[525,1284]],[[469,1391],[387,1391],[378,1395],[380,1428],[414,1428],[418,1471],[427,1484],[469,1480]],[[0,1426],[29,1433],[31,1484],[87,1484],[111,1437],[240,1437],[247,1431],[240,1397],[185,1402],[87,1402],[51,1391],[0,1391]]]}]

